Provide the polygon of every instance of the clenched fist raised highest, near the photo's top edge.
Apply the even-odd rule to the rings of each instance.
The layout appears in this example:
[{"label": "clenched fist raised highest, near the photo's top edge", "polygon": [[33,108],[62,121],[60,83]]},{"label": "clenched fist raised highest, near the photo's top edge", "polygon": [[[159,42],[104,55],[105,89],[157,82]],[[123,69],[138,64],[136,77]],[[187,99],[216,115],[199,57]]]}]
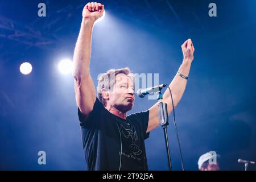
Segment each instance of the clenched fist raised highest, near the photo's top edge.
[{"label": "clenched fist raised highest, near the photo's top edge", "polygon": [[101,18],[103,13],[104,5],[97,2],[89,2],[85,5],[84,10],[82,10],[82,17],[96,21]]}]

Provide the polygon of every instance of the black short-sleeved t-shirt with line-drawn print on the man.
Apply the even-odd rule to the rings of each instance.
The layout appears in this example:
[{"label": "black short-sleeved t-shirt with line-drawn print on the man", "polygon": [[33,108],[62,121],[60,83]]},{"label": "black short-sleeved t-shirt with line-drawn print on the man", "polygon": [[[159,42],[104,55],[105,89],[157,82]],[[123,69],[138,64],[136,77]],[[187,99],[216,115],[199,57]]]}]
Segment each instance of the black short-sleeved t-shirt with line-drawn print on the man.
[{"label": "black short-sleeved t-shirt with line-drawn print on the man", "polygon": [[144,139],[149,137],[149,110],[122,119],[96,98],[88,118],[79,109],[78,114],[88,170],[148,170]]}]

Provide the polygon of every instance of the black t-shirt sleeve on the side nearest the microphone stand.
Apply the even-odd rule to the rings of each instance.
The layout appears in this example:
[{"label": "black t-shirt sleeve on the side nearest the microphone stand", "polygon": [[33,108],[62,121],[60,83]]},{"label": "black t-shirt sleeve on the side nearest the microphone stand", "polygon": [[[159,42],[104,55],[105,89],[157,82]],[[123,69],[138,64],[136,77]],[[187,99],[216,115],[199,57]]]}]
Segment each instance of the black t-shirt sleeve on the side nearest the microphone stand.
[{"label": "black t-shirt sleeve on the side nearest the microphone stand", "polygon": [[138,113],[129,115],[130,121],[133,122],[136,127],[138,127],[138,130],[141,132],[143,139],[147,139],[150,135],[149,132],[146,133],[148,126],[148,116],[149,110],[140,111]]}]

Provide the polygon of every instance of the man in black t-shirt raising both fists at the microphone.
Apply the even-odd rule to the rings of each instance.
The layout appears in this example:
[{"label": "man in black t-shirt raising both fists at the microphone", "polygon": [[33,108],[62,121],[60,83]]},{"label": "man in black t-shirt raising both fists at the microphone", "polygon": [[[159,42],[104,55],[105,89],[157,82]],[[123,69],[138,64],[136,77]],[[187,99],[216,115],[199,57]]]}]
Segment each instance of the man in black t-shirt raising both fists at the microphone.
[{"label": "man in black t-shirt raising both fists at the microphone", "polygon": [[[159,126],[158,103],[146,111],[126,115],[134,105],[134,78],[129,68],[110,69],[98,80],[97,97],[89,73],[93,25],[104,14],[101,3],[87,3],[73,56],[73,77],[88,170],[147,170],[144,139]],[[183,96],[195,48],[188,39],[181,46],[183,61],[170,89],[174,106]],[[167,90],[168,91],[168,90]],[[163,102],[172,111],[170,92]]]}]

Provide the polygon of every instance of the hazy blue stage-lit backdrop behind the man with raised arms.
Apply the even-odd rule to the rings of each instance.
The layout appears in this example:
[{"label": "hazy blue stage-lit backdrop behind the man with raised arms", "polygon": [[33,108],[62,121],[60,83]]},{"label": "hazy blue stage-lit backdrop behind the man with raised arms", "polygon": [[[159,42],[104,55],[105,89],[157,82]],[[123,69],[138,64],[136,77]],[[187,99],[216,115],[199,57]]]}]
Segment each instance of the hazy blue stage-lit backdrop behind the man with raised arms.
[{"label": "hazy blue stage-lit backdrop behind the man with raised arms", "polygon": [[[46,3],[46,17],[38,4]],[[221,155],[222,170],[243,170],[238,158],[256,160],[256,1],[101,1],[106,16],[94,26],[90,73],[130,67],[159,73],[170,83],[183,56],[181,44],[195,46],[187,88],[176,107],[185,169],[197,170],[199,156]],[[72,59],[86,1],[0,2],[0,169],[85,170],[72,75],[57,64]],[[19,72],[29,61],[30,75]],[[154,100],[136,98],[129,113]],[[181,170],[170,117],[172,167]],[[38,164],[38,151],[47,164]],[[146,140],[148,167],[168,170],[161,127]],[[251,166],[249,169],[255,169]]]}]

